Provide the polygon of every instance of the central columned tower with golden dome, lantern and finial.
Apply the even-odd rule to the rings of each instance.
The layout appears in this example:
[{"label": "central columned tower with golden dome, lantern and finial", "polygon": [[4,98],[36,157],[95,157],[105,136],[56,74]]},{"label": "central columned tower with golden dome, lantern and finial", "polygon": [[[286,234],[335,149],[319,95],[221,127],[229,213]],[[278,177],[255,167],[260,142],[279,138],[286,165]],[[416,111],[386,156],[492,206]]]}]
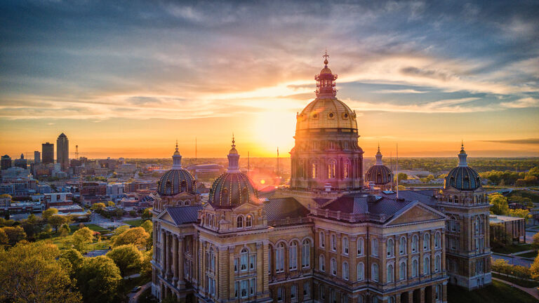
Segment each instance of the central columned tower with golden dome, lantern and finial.
[{"label": "central columned tower with golden dome, lantern and finial", "polygon": [[314,76],[317,98],[296,116],[291,150],[291,189],[359,189],[363,150],[357,144],[356,113],[337,99],[337,75],[324,68]]}]

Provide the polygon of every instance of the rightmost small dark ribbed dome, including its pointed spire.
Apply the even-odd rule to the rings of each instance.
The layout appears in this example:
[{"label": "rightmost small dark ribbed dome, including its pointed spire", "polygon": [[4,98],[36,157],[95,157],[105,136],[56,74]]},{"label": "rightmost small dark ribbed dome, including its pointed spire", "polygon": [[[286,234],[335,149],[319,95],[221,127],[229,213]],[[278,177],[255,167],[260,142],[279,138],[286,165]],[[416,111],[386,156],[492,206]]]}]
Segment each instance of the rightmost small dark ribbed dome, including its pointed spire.
[{"label": "rightmost small dark ribbed dome, including its pointed spire", "polygon": [[467,163],[467,154],[464,151],[464,144],[460,148],[458,153],[459,163],[458,166],[453,168],[444,181],[444,189],[448,187],[454,187],[459,190],[475,190],[481,187],[481,178],[477,171],[470,168]]}]

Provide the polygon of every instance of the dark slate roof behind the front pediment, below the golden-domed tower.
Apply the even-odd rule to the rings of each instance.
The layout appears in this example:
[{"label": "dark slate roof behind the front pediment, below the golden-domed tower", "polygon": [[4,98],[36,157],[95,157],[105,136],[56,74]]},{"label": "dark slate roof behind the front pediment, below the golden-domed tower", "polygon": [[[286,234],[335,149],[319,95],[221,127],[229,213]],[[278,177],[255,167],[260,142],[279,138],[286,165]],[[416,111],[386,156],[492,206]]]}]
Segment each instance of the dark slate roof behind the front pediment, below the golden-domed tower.
[{"label": "dark slate roof behind the front pediment, below the golden-domed tower", "polygon": [[411,202],[412,201],[397,200],[385,196],[351,194],[341,196],[327,206],[324,206],[323,209],[340,211],[341,213],[348,213],[351,215],[371,213],[374,215],[385,215],[389,218]]}]

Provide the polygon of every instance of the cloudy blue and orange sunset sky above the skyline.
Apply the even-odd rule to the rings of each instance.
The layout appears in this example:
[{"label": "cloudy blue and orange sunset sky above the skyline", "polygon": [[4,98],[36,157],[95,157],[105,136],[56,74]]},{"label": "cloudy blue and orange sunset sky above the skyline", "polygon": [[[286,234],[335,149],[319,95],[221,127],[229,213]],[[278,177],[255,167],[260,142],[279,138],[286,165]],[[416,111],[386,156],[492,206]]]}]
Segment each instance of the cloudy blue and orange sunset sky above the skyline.
[{"label": "cloudy blue and orange sunset sky above the skyline", "polygon": [[537,1],[290,2],[2,1],[0,154],[288,156],[327,48],[364,156],[539,156]]}]

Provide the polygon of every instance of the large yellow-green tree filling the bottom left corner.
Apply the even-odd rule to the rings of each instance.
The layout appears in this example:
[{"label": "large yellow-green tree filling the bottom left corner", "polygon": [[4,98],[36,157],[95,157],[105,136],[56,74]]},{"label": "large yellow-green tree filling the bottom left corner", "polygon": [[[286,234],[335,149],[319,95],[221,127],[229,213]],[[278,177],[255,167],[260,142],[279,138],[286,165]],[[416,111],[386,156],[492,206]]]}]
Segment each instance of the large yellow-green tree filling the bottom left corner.
[{"label": "large yellow-green tree filling the bottom left corner", "polygon": [[20,242],[0,251],[0,302],[81,302],[53,243]]}]

